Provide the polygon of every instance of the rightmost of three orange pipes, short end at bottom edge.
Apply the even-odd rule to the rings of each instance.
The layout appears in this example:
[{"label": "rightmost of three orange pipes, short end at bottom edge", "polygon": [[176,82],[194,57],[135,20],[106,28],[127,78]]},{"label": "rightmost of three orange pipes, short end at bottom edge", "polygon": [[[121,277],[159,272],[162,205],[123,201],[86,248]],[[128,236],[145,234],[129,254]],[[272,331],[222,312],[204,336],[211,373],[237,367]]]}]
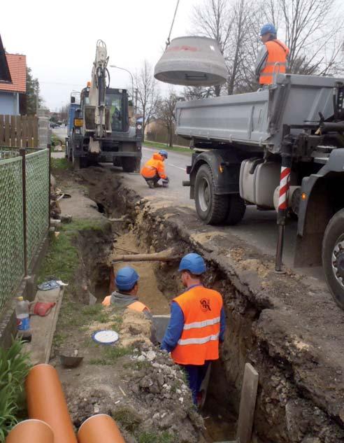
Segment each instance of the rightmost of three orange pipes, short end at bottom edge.
[{"label": "rightmost of three orange pipes, short end at bottom edge", "polygon": [[110,416],[98,414],[85,420],[78,430],[79,443],[125,443]]}]

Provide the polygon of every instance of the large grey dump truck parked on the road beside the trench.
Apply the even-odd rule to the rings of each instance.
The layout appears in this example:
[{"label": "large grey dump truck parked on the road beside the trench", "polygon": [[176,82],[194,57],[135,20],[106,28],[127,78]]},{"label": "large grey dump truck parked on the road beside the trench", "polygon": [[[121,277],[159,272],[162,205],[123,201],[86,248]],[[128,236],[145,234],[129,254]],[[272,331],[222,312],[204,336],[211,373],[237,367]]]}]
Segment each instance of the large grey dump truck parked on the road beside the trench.
[{"label": "large grey dump truck parked on the road beside the trench", "polygon": [[344,309],[344,79],[277,74],[246,94],[179,101],[176,133],[194,149],[190,197],[210,225],[245,208],[278,211],[276,271],[287,218],[297,218],[294,265],[322,265]]}]

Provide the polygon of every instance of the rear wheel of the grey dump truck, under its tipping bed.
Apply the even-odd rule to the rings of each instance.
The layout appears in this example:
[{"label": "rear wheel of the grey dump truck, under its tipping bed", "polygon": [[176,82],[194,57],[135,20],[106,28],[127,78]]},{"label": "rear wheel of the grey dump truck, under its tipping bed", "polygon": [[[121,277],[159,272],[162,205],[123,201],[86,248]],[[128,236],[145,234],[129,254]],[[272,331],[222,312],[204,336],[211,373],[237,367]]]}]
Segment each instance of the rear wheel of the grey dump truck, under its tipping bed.
[{"label": "rear wheel of the grey dump truck, under its tipping bed", "polygon": [[199,218],[207,225],[220,225],[224,222],[229,199],[228,195],[216,195],[213,174],[208,164],[202,164],[196,174],[195,204]]}]

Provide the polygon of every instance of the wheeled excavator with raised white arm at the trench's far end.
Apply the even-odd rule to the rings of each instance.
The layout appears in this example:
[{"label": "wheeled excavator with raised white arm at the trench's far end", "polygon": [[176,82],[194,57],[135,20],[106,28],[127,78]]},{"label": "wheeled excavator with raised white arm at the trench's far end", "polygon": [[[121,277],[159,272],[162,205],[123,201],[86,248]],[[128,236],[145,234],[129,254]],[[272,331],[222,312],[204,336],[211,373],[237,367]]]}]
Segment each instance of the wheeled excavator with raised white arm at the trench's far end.
[{"label": "wheeled excavator with raised white arm at the trench's far end", "polygon": [[[140,170],[142,125],[130,123],[133,106],[126,89],[110,87],[108,55],[103,41],[96,44],[92,80],[80,92],[80,106],[71,96],[66,157],[76,168],[94,162],[113,162],[125,172]],[[73,109],[72,109],[73,108]]]}]

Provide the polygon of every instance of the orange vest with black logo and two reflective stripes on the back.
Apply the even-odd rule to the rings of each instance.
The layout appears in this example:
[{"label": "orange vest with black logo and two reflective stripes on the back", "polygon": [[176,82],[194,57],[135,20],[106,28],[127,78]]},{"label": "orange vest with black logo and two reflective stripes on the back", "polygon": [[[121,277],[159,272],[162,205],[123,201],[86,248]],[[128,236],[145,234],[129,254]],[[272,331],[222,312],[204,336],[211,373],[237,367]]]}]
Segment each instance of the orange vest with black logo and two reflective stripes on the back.
[{"label": "orange vest with black logo and two reflective stripes on the back", "polygon": [[171,352],[179,365],[203,365],[219,358],[220,317],[222,296],[216,290],[195,286],[176,297],[184,328],[177,346]]}]

